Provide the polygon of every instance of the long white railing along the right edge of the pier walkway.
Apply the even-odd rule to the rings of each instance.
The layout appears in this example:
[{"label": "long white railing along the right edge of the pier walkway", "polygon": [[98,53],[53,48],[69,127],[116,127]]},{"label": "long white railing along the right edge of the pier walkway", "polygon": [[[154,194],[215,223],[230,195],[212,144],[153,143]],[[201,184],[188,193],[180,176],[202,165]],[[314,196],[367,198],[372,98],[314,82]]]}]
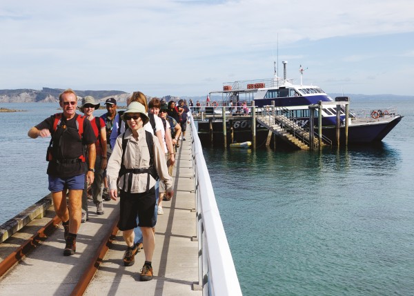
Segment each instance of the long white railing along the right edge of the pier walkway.
[{"label": "long white railing along the right edge of the pier walkway", "polygon": [[190,116],[193,132],[193,168],[195,169],[195,196],[197,238],[199,244],[199,286],[203,295],[242,295],[239,279],[230,253],[230,247],[204,159],[203,150]]}]

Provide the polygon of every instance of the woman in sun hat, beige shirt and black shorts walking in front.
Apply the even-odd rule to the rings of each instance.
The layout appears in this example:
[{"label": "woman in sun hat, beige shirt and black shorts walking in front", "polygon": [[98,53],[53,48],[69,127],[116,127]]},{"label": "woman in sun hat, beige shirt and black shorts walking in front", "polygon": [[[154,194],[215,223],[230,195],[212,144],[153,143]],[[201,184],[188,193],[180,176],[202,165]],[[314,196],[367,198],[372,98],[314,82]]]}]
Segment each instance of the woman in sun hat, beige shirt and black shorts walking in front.
[{"label": "woman in sun hat, beige shirt and black shorts walking in front", "polygon": [[[145,107],[136,101],[130,103],[122,119],[126,121],[129,128],[117,137],[109,159],[107,174],[110,197],[117,199],[117,186],[119,186],[121,212],[118,228],[123,231],[128,246],[127,253],[133,252],[136,248],[134,228],[137,227],[136,217],[139,216],[145,253],[141,281],[148,281],[153,275],[152,255],[155,249],[155,235],[152,232],[156,204],[154,172],[156,171],[160,181],[164,182],[168,197],[173,195],[172,178],[168,175],[164,151],[157,137],[144,129],[144,124],[149,121]],[[147,137],[152,138],[147,139]]]}]

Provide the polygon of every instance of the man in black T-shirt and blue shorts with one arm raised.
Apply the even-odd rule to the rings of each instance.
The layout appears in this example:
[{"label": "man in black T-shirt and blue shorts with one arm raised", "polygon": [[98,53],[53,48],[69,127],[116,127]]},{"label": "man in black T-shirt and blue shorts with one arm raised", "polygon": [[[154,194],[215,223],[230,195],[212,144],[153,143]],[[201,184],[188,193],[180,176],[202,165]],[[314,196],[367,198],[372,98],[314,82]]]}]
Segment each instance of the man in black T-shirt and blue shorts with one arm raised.
[{"label": "man in black T-shirt and blue shorts with one arm raised", "polygon": [[[82,190],[85,181],[92,184],[95,168],[95,142],[90,121],[76,113],[77,95],[68,88],[59,95],[62,113],[57,113],[30,128],[28,136],[52,136],[48,148],[49,190],[52,192],[56,215],[61,219],[66,241],[63,255],[76,252],[76,237],[81,226]],[[88,151],[88,172],[84,148]],[[86,179],[85,179],[86,178]],[[68,202],[66,190],[69,190]]]}]

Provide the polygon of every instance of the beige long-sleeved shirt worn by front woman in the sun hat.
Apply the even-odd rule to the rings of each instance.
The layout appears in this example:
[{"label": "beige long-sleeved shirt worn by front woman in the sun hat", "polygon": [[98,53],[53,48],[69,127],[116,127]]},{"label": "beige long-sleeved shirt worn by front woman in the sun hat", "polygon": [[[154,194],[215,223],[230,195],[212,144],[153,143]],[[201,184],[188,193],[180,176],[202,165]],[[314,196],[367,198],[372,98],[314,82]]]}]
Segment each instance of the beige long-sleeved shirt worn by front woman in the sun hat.
[{"label": "beige long-sleeved shirt worn by front woman in the sun hat", "polygon": [[[117,186],[121,190],[128,190],[128,177],[132,173],[126,173],[126,175],[119,178],[118,184],[117,179],[119,170],[121,168],[121,157],[122,157],[122,135],[117,137],[115,146],[110,155],[108,166],[106,168],[106,175],[110,182],[110,189],[117,189]],[[164,182],[166,190],[172,188],[172,177],[168,174],[168,168],[166,164],[166,157],[163,154],[162,148],[159,144],[158,138],[152,136],[154,142],[154,166],[159,175],[159,181]],[[128,168],[149,168],[150,166],[150,152],[146,142],[146,133],[144,128],[138,130],[138,139],[136,140],[132,136],[130,129],[125,132],[125,139],[129,139],[126,146],[124,156],[124,166]],[[124,178],[126,181],[124,182]],[[132,186],[131,193],[144,193],[147,189],[147,173],[132,174]],[[150,188],[155,186],[155,179],[150,176]],[[124,184],[126,188],[124,188]]]}]

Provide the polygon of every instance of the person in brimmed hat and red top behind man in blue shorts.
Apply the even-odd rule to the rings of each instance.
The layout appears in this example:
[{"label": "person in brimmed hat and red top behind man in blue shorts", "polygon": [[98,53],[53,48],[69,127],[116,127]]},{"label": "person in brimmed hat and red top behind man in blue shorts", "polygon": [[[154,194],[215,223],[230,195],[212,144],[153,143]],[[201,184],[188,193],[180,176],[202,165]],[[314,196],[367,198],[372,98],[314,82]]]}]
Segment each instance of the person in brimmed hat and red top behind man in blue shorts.
[{"label": "person in brimmed hat and red top behind man in blue shorts", "polygon": [[[99,109],[100,104],[95,102],[94,97],[86,96],[82,99],[82,104],[79,110],[83,112],[90,124],[92,124],[93,131],[97,141],[95,142],[96,160],[95,160],[95,179],[91,185],[92,198],[94,204],[97,206],[97,215],[103,215],[103,172],[106,169],[108,159],[106,157],[106,128],[105,122],[101,117],[95,117],[93,115],[94,110]],[[97,123],[99,121],[99,124]],[[99,128],[98,128],[99,127]],[[88,159],[88,156],[87,156]],[[84,223],[88,220],[88,184],[85,182],[85,188],[82,193],[82,219]]]}]

